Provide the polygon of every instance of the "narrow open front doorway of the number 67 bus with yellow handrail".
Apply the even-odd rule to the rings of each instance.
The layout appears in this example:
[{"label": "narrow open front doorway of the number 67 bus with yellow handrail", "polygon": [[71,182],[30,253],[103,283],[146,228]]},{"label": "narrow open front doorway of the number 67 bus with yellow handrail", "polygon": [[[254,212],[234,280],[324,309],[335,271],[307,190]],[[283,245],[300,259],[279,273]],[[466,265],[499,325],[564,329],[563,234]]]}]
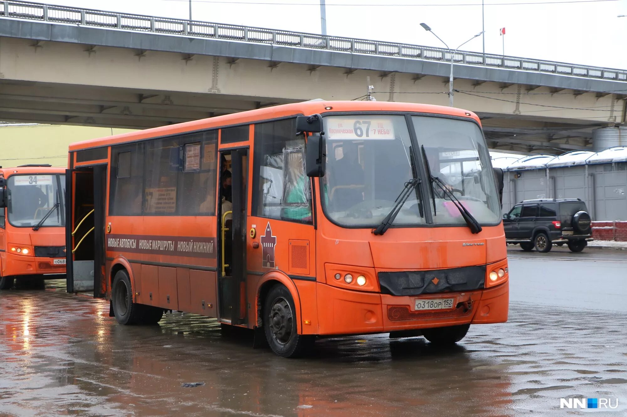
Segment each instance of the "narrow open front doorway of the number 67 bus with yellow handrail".
[{"label": "narrow open front doorway of the number 67 bus with yellow handrail", "polygon": [[[218,309],[219,319],[231,324],[246,324],[246,197],[248,196],[248,148],[233,149],[231,155],[231,203],[222,210],[223,174],[219,179]],[[220,167],[220,170],[222,168]],[[229,213],[230,212],[230,213]],[[232,217],[232,219],[228,219]]]}]

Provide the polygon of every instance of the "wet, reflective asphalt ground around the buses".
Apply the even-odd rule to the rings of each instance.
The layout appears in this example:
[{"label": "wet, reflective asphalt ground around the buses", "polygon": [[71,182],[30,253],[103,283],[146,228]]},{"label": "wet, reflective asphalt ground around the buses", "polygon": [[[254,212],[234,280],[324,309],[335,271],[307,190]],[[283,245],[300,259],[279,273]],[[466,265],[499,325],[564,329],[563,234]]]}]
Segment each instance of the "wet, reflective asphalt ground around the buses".
[{"label": "wet, reflective asphalt ground around the buses", "polygon": [[[450,349],[387,334],[323,339],[306,359],[167,314],[120,326],[108,303],[0,292],[0,416],[627,415],[627,251],[511,248],[510,319]],[[201,383],[186,388],[184,383]],[[614,411],[560,398],[618,398]]]}]

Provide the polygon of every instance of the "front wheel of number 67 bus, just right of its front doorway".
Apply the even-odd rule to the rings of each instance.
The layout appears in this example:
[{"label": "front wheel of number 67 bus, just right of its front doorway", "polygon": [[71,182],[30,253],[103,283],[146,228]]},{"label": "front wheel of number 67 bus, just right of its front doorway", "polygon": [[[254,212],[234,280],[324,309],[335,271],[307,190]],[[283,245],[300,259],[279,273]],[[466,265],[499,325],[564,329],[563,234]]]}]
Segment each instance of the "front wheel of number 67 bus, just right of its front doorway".
[{"label": "front wheel of number 67 bus, just right of its front doorway", "polygon": [[283,358],[297,358],[311,348],[314,338],[298,334],[297,315],[290,291],[282,284],[270,289],[263,302],[263,328],[270,349]]}]

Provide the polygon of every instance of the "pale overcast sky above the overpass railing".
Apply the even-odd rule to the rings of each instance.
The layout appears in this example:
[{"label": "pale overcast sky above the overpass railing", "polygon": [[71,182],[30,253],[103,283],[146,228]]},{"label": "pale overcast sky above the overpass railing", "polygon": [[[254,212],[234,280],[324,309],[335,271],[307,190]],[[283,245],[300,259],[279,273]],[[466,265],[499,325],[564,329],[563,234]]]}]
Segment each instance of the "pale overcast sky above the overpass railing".
[{"label": "pale overcast sky above the overpass railing", "polygon": [[[189,18],[188,0],[40,1]],[[553,3],[558,1],[567,0],[485,0],[485,51],[502,53],[503,37],[499,29],[505,27],[505,54],[627,68],[627,17],[616,17],[627,14],[627,0]],[[192,0],[192,18],[320,33],[319,3],[319,0]],[[424,22],[451,48],[456,48],[482,30],[481,3],[481,0],[327,0],[327,33],[443,46],[419,26]],[[482,38],[473,39],[462,49],[482,51]]]}]

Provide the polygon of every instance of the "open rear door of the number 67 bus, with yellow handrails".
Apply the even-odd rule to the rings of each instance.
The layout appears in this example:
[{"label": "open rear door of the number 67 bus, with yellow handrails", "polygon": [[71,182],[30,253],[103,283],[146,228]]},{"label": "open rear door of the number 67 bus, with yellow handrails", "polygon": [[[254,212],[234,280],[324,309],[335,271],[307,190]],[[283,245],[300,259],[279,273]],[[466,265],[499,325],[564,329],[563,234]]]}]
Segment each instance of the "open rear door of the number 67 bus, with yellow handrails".
[{"label": "open rear door of the number 67 bus, with yellow handrails", "polygon": [[66,170],[67,292],[105,297],[107,165]]}]

